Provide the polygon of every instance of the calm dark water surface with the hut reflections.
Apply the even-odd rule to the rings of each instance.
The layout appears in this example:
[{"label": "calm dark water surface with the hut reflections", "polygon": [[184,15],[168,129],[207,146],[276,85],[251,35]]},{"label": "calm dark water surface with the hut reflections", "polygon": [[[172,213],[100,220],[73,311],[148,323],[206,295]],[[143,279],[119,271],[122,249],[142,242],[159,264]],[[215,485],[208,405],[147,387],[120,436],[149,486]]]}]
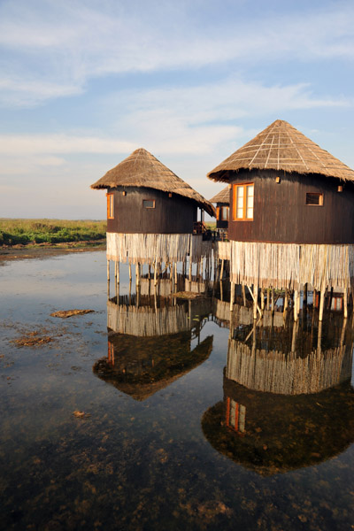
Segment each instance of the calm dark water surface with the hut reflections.
[{"label": "calm dark water surface with the hut reflections", "polygon": [[129,296],[125,270],[107,303],[105,276],[0,266],[1,529],[353,528],[351,319],[230,323],[218,290]]}]

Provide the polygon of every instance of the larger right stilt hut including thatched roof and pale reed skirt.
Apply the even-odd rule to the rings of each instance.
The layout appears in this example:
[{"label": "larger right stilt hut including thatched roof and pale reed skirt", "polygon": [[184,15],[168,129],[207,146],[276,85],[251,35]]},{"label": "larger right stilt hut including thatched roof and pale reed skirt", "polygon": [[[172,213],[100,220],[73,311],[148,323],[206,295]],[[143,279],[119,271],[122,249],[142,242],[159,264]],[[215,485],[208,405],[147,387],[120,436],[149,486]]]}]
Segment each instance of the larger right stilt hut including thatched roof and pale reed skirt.
[{"label": "larger right stilt hut including thatched roof and pale reed skirt", "polygon": [[[290,289],[297,319],[300,289],[342,291],[344,315],[354,281],[354,171],[277,119],[208,177],[229,183],[231,281]],[[255,311],[256,317],[257,310]]]}]

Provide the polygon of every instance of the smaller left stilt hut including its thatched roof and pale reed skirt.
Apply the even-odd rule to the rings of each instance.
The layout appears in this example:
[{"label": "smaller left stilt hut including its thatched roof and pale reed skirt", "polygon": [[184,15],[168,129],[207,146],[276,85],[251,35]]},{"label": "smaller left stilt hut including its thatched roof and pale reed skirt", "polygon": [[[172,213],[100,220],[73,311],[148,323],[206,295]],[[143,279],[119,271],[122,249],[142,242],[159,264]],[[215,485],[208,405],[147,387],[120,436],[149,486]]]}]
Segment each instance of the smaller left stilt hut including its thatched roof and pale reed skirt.
[{"label": "smaller left stilt hut including its thatched roof and pale reed skirt", "polygon": [[135,264],[138,281],[142,264],[156,274],[163,262],[175,266],[189,255],[191,264],[211,254],[193,228],[197,209],[214,216],[214,207],[147,150],[135,150],[91,188],[107,190],[107,259]]}]

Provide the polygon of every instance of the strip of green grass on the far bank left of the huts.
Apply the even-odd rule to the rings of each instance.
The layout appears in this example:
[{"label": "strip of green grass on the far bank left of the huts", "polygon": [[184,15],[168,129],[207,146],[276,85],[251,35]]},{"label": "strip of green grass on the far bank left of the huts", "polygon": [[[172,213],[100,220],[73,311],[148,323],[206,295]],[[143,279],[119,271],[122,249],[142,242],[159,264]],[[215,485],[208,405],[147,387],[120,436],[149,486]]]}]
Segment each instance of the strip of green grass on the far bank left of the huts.
[{"label": "strip of green grass on the far bank left of the huts", "polygon": [[106,221],[0,218],[0,245],[88,242],[105,238]]}]

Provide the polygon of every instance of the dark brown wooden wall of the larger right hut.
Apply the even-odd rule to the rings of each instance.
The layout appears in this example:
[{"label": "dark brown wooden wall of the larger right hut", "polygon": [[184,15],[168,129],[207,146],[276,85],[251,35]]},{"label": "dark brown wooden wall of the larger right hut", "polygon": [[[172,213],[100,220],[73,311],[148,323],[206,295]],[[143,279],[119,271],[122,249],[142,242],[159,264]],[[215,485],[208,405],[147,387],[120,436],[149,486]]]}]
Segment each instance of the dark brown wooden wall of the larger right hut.
[{"label": "dark brown wooden wall of the larger right hut", "polygon": [[[275,178],[279,176],[281,182]],[[339,180],[273,170],[240,171],[235,184],[254,182],[254,216],[233,220],[230,204],[228,237],[238,242],[353,243],[354,189],[350,183],[337,191]],[[305,204],[306,192],[324,194],[323,206]]]}]

